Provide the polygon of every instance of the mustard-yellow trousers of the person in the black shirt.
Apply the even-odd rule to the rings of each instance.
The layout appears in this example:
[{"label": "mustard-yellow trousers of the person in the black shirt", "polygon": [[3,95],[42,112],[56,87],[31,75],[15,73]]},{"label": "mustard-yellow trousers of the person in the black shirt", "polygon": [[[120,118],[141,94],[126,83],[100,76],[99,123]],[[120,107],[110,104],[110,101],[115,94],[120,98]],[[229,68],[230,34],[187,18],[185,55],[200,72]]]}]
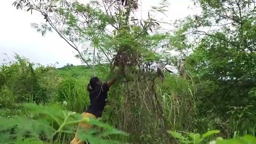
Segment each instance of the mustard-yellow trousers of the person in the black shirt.
[{"label": "mustard-yellow trousers of the person in the black shirt", "polygon": [[[90,113],[83,113],[82,116],[83,117],[91,117],[93,119],[97,118],[96,116],[94,116],[93,114],[90,114]],[[86,124],[86,123],[79,123],[77,128],[78,129],[83,128],[85,131],[87,131],[92,128],[92,125]],[[84,143],[84,141],[81,141],[77,138],[77,132],[76,132],[75,138],[70,142],[70,144],[82,144],[82,143]]]}]

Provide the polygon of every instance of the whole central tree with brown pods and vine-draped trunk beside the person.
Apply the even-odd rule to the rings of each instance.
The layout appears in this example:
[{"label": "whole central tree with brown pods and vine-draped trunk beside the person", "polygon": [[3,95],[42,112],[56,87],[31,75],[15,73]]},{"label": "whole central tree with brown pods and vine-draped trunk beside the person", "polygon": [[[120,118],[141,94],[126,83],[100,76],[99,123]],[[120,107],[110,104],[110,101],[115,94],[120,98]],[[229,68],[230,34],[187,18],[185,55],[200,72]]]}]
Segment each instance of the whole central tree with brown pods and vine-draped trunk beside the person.
[{"label": "whole central tree with brown pods and vine-draped trunk beside the person", "polygon": [[[125,5],[120,6],[121,3]],[[163,116],[157,98],[159,95],[156,95],[157,75],[150,63],[167,62],[165,58],[168,53],[156,50],[169,49],[169,34],[152,34],[154,28],[159,27],[159,22],[151,18],[149,13],[145,21],[133,18],[132,11],[138,9],[138,1],[90,1],[87,4],[81,4],[66,0],[23,0],[14,2],[14,6],[17,9],[26,7],[27,11],[41,13],[46,23],[41,27],[37,24],[33,26],[42,34],[49,29],[57,31],[59,36],[78,52],[79,58],[92,69],[94,65],[91,66],[91,62],[94,64],[95,61],[98,63],[107,61],[111,70],[117,68],[123,71],[126,82],[119,85],[122,93],[111,99],[114,103],[117,100],[120,100],[118,103],[123,103],[124,110],[120,115],[123,116],[124,121],[120,127],[134,135],[131,141],[138,138],[137,142],[140,143],[142,139],[146,139],[140,137],[138,133],[155,134],[155,131],[148,129],[149,125],[155,126],[148,119],[153,117],[156,123],[155,129],[161,129],[168,135],[167,127],[158,121],[163,119]],[[82,46],[78,47],[79,44]],[[81,52],[85,44],[91,45],[89,49],[92,53],[89,53],[89,50]],[[147,63],[146,68],[143,67],[144,63]],[[163,76],[163,73],[160,74]],[[123,93],[124,95],[121,95]],[[120,99],[119,97],[122,96],[124,97]],[[145,97],[147,97],[146,100]],[[116,102],[115,105],[118,103]],[[115,105],[113,104],[112,107]],[[134,108],[141,110],[148,118],[141,120]],[[157,133],[155,138],[166,137],[163,133]],[[153,137],[150,139],[152,139],[150,142],[154,142]]]}]

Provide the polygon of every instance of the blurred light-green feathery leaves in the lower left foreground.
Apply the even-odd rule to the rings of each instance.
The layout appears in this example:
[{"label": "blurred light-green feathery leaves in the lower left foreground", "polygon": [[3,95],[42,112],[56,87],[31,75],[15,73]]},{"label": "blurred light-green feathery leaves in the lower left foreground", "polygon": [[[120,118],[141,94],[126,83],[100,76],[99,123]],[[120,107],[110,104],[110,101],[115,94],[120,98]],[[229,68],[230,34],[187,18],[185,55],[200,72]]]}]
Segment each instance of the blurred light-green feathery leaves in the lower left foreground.
[{"label": "blurred light-green feathery leaves in the lower left foreground", "polygon": [[[64,142],[67,134],[75,133],[75,125],[85,122],[98,126],[101,129],[91,129],[78,138],[90,143],[119,143],[107,140],[110,134],[123,134],[114,127],[103,124],[99,119],[83,118],[81,114],[62,110],[56,106],[42,106],[34,103],[23,103],[19,106],[21,115],[0,117],[1,143],[44,143]],[[98,134],[97,134],[98,133]],[[97,135],[95,135],[97,134]]]}]

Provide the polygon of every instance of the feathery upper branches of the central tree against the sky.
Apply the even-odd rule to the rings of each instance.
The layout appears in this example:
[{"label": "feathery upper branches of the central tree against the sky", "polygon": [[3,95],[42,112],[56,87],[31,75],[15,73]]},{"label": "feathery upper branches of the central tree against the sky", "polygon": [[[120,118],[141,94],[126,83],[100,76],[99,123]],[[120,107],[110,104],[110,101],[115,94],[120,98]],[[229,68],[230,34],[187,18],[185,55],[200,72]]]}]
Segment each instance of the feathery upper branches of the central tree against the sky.
[{"label": "feathery upper branches of the central tree against the sky", "polygon": [[[124,4],[125,7],[121,7],[120,4]],[[144,21],[131,19],[132,10],[138,9],[137,1],[89,1],[82,4],[78,1],[22,0],[15,1],[13,5],[17,9],[42,14],[46,22],[40,25],[32,23],[31,26],[42,35],[45,35],[46,31],[56,31],[77,51],[77,57],[90,68],[93,68],[92,65],[96,61],[113,62],[114,55],[118,55],[120,43],[129,42],[129,36],[125,35],[124,30],[128,33],[132,30],[133,39],[130,42],[138,41],[146,50],[150,50],[143,51],[144,53],[153,53],[151,50],[156,49],[155,46],[162,46],[159,42],[166,39],[166,36],[161,37],[162,34],[153,37],[148,35],[147,30],[152,31],[152,27],[159,25],[156,20],[150,18],[150,15]],[[145,36],[158,39],[154,43],[141,40],[141,37]]]}]

